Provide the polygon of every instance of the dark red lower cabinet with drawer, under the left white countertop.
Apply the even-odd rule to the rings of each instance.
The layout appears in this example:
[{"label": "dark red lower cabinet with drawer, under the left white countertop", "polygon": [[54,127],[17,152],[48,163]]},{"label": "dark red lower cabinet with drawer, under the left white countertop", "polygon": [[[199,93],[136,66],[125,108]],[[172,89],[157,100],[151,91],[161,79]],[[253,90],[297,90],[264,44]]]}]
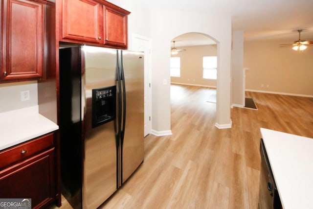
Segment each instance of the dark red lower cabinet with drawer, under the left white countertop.
[{"label": "dark red lower cabinet with drawer, under the left white countertop", "polygon": [[[52,135],[53,136],[53,135]],[[51,137],[51,136],[47,136]],[[46,137],[34,139],[8,150],[0,152],[0,158],[10,162],[7,156],[15,156],[19,151],[21,155],[36,151],[36,144],[39,147],[46,142]],[[32,143],[32,144],[31,144]],[[41,143],[41,144],[40,144]],[[29,149],[24,149],[27,145]],[[37,148],[38,149],[38,148]],[[0,170],[0,197],[1,198],[28,198],[31,199],[32,208],[45,208],[56,202],[56,170],[55,170],[55,147],[49,147],[44,151],[39,151],[31,157],[11,163],[9,166]],[[12,154],[12,155],[9,155]]]}]

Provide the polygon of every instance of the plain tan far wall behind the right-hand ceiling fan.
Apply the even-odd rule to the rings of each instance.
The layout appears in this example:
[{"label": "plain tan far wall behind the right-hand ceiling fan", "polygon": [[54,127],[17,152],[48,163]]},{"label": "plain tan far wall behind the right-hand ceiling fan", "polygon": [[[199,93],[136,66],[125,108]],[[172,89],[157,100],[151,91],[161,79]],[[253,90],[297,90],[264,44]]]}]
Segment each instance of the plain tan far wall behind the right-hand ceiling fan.
[{"label": "plain tan far wall behind the right-hand ceiling fan", "polygon": [[313,96],[313,46],[303,52],[279,44],[293,41],[246,41],[246,90]]}]

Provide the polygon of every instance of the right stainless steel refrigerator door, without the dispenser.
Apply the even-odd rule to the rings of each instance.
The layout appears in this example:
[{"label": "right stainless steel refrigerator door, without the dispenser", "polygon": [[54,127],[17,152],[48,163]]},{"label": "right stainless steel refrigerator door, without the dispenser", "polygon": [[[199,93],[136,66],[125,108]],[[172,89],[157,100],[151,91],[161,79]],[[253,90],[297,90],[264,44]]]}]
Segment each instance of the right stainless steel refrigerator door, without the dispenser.
[{"label": "right stainless steel refrigerator door, without the dispenser", "polygon": [[122,183],[144,159],[144,54],[122,51],[126,121],[122,144]]}]

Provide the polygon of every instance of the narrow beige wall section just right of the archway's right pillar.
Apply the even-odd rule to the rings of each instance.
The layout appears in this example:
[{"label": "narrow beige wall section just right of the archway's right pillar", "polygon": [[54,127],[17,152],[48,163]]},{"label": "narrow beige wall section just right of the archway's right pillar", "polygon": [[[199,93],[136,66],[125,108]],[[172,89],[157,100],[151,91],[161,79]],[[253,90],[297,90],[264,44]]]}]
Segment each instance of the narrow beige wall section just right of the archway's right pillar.
[{"label": "narrow beige wall section just right of the archway's right pillar", "polygon": [[234,31],[232,41],[232,104],[245,106],[244,31]]}]

